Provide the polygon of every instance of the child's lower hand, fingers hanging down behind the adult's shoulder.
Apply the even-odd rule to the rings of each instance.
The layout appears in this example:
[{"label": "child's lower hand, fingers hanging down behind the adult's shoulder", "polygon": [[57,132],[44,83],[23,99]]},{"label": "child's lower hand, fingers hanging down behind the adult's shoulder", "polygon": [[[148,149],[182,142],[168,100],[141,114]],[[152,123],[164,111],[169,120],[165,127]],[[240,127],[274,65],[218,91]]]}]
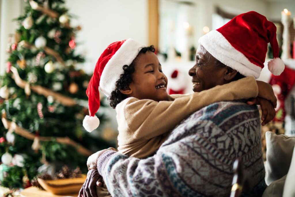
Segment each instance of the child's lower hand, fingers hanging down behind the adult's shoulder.
[{"label": "child's lower hand, fingers hanging down behind the adult's shoulder", "polygon": [[263,121],[261,123],[262,126],[266,125],[266,123],[269,123],[276,115],[276,110],[273,107],[273,104],[264,98],[257,97],[250,99],[247,102],[248,105],[260,105],[262,110],[262,116],[261,120]]}]

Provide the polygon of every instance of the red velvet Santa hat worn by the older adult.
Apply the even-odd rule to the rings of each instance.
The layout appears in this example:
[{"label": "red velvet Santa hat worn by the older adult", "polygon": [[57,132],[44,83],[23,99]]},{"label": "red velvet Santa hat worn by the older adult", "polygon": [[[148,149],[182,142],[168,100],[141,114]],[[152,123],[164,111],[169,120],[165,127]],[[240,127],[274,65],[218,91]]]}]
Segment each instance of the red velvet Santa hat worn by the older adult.
[{"label": "red velvet Santa hat worn by the older adult", "polygon": [[199,43],[223,64],[256,79],[263,69],[267,44],[270,43],[274,59],[268,62],[268,69],[272,74],[280,75],[285,68],[278,57],[276,26],[254,11],[236,16],[219,29],[202,36]]}]

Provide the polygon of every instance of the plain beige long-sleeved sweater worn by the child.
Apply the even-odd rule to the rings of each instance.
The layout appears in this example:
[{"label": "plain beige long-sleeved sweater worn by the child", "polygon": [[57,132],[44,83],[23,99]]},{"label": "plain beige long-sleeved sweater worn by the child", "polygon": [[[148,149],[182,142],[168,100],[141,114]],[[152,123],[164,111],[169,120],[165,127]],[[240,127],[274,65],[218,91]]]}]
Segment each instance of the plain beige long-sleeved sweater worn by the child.
[{"label": "plain beige long-sleeved sweater worn by the child", "polygon": [[255,79],[245,77],[191,95],[171,95],[168,101],[127,98],[116,107],[118,151],[129,157],[148,157],[165,141],[169,131],[193,112],[215,102],[257,95]]}]

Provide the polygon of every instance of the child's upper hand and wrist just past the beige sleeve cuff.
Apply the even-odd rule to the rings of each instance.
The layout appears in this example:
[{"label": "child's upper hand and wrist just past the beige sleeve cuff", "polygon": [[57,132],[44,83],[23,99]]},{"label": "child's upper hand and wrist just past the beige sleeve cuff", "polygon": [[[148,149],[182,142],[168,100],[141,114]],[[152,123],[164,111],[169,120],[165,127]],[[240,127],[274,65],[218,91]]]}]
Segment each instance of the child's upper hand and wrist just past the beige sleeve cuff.
[{"label": "child's upper hand and wrist just past the beige sleeve cuff", "polygon": [[273,93],[273,88],[271,85],[262,81],[256,81],[256,83],[258,86],[258,97],[271,101],[273,107],[276,108],[277,98]]}]

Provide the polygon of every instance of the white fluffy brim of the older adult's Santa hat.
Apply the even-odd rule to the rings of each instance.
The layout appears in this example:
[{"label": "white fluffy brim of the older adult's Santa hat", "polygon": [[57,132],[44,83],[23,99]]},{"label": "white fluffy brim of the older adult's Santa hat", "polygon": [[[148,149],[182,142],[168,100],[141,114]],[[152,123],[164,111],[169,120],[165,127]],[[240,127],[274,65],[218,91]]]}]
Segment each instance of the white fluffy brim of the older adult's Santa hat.
[{"label": "white fluffy brim of the older adult's Santa hat", "polygon": [[213,30],[199,39],[199,43],[216,59],[223,64],[237,70],[244,76],[260,76],[261,68],[251,63],[246,56],[236,50],[224,36]]}]

